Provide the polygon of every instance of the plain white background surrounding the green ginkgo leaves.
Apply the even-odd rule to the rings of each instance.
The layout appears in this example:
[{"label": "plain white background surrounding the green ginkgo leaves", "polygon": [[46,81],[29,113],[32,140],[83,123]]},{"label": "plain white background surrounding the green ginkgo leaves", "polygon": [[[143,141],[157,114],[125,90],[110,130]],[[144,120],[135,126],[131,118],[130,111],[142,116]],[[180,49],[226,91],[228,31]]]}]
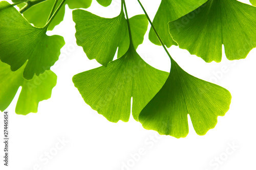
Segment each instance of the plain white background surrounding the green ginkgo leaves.
[{"label": "plain white background surrounding the green ginkgo leaves", "polygon": [[[160,0],[141,2],[153,19]],[[249,4],[249,0],[242,2]],[[15,104],[19,89],[7,109],[10,112],[10,166],[3,166],[4,145],[1,142],[0,169],[256,169],[256,48],[243,60],[228,61],[223,53],[221,63],[205,63],[186,50],[170,47],[168,50],[172,57],[189,74],[228,89],[232,94],[232,103],[226,115],[218,117],[216,128],[205,136],[196,134],[190,119],[186,138],[160,136],[155,131],[143,129],[132,116],[128,123],[111,123],[84,103],[72,77],[100,64],[90,61],[82,47],[76,45],[72,10],[67,6],[66,9],[65,20],[54,31],[47,33],[61,35],[66,40],[59,61],[52,67],[58,76],[52,98],[40,102],[36,114],[17,115]],[[143,14],[136,0],[127,1],[127,9],[129,17]],[[113,4],[105,8],[94,0],[88,11],[114,17],[120,12],[120,3],[113,0]],[[138,53],[152,66],[169,71],[168,56],[161,46],[148,40],[148,32]],[[2,129],[3,120],[0,126]],[[3,138],[2,130],[0,137]],[[58,143],[62,138],[68,141],[64,147]],[[56,144],[61,149],[56,150]],[[230,144],[238,148],[232,149]],[[138,157],[139,151],[144,152]],[[47,152],[54,156],[46,159]],[[217,163],[215,159],[219,157],[221,162]]]}]

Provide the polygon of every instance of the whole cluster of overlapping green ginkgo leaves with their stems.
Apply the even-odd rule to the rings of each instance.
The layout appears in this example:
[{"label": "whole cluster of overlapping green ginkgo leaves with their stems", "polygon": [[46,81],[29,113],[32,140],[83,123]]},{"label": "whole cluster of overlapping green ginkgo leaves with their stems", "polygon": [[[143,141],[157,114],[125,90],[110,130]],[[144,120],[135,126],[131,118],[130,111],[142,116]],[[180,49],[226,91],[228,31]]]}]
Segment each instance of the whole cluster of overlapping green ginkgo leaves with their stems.
[{"label": "whole cluster of overlapping green ginkgo leaves with their stems", "polygon": [[[65,45],[63,37],[48,36],[73,11],[77,45],[102,66],[73,77],[84,102],[110,122],[127,122],[131,113],[145,129],[177,138],[188,134],[189,114],[197,134],[204,135],[229,109],[231,94],[216,84],[189,75],[169,55],[179,45],[205,62],[220,62],[222,45],[229,60],[244,59],[256,47],[256,7],[236,0],[162,0],[153,22],[145,15],[128,16],[125,1],[120,14],[104,18],[77,8],[92,0],[12,0],[0,2],[0,110],[5,110],[22,86],[16,113],[37,112],[49,99],[57,76],[50,70]],[[97,0],[107,7],[112,0]],[[254,0],[250,0],[256,5]],[[20,11],[13,6],[18,5]],[[162,45],[170,72],[147,64],[136,52],[148,38]],[[32,26],[33,24],[33,26]],[[117,59],[114,59],[117,53]]]}]

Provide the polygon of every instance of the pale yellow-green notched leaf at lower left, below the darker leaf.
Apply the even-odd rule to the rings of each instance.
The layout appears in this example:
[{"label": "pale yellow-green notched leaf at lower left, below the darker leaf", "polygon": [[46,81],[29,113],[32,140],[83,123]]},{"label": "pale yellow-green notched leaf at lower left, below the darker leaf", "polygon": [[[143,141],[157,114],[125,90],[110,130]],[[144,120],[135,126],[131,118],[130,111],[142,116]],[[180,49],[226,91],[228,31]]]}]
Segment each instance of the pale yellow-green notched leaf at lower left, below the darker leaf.
[{"label": "pale yellow-green notched leaf at lower left, below the darker leaf", "polygon": [[17,90],[22,86],[22,91],[16,105],[16,113],[26,115],[36,113],[38,103],[51,98],[53,87],[57,83],[57,76],[51,70],[44,74],[34,76],[32,80],[23,78],[24,66],[16,71],[11,71],[10,66],[0,62],[0,110],[4,111],[11,104]]}]

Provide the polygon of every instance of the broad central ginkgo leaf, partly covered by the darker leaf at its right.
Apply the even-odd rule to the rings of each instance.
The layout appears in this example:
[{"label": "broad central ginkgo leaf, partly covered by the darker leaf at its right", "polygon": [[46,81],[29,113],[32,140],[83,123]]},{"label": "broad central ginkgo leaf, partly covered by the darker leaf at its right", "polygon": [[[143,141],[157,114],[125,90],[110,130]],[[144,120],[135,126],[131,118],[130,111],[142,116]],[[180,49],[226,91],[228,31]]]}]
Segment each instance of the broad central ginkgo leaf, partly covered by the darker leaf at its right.
[{"label": "broad central ginkgo leaf, partly covered by the darker leaf at its right", "polygon": [[73,77],[83,100],[110,122],[138,120],[142,108],[160,90],[168,76],[144,62],[131,46],[121,58]]}]

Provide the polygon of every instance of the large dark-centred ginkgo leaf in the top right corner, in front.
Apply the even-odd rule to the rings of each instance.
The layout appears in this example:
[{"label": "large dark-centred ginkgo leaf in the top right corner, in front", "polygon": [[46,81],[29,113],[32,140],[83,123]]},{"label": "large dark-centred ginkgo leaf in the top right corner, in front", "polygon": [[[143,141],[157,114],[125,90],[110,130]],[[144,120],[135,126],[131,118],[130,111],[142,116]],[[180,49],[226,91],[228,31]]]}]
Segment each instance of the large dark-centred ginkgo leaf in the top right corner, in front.
[{"label": "large dark-centred ginkgo leaf in the top right corner, in front", "polygon": [[206,62],[221,61],[222,44],[227,59],[246,58],[256,47],[255,28],[256,7],[236,0],[208,0],[195,11],[169,22],[169,32],[179,47]]}]

